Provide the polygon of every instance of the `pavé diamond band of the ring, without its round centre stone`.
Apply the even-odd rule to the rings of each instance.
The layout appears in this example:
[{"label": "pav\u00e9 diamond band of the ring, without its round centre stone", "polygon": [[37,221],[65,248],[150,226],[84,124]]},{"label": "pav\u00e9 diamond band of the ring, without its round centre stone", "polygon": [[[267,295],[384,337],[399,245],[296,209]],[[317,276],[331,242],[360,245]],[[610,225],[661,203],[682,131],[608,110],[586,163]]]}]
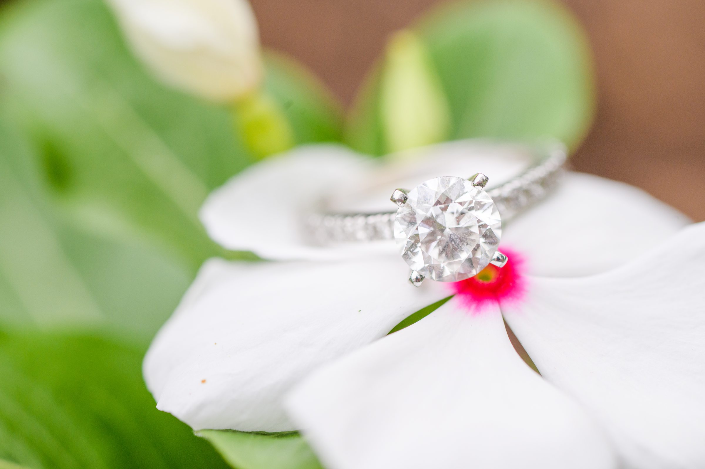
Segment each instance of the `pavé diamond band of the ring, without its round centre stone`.
[{"label": "pav\u00e9 diamond band of the ring, without its round centre stone", "polygon": [[[565,146],[556,143],[541,150],[538,162],[527,171],[495,188],[486,190],[494,200],[502,221],[508,221],[546,197],[562,176],[567,158]],[[397,212],[318,213],[307,220],[307,231],[315,243],[326,245],[350,241],[393,239]]]}]

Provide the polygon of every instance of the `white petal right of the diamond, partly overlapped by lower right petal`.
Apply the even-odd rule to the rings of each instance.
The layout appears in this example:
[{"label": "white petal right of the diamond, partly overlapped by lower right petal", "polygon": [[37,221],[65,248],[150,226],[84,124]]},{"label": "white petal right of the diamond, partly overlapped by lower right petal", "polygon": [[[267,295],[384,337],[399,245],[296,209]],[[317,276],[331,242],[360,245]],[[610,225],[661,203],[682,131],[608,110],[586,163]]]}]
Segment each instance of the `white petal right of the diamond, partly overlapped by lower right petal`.
[{"label": "white petal right of the diamond, partly overlapped by lower right petal", "polygon": [[532,274],[581,276],[624,264],[688,223],[643,190],[569,173],[556,193],[507,224],[502,245],[525,254]]}]

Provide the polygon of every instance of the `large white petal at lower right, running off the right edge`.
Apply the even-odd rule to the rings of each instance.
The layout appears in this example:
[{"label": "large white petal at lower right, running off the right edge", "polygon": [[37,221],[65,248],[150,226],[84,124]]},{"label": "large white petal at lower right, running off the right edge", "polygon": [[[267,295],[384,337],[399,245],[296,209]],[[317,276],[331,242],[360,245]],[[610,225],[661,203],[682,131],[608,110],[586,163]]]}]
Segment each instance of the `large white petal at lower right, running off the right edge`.
[{"label": "large white petal at lower right, running off the right edge", "polygon": [[613,272],[532,278],[503,312],[544,377],[591,409],[631,466],[705,467],[705,224]]}]

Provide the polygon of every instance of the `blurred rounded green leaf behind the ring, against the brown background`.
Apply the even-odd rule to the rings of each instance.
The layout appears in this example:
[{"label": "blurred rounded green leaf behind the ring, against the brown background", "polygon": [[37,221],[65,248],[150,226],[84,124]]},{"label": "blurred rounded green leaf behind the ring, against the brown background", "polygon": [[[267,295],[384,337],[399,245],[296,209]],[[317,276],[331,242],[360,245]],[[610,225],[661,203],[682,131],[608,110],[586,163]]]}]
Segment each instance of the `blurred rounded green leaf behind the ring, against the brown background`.
[{"label": "blurred rounded green leaf behind the ring, against the brown background", "polygon": [[[582,28],[552,1],[463,1],[417,25],[450,104],[450,138],[558,138],[580,145],[594,114]],[[388,151],[379,66],[348,123],[357,150]]]}]

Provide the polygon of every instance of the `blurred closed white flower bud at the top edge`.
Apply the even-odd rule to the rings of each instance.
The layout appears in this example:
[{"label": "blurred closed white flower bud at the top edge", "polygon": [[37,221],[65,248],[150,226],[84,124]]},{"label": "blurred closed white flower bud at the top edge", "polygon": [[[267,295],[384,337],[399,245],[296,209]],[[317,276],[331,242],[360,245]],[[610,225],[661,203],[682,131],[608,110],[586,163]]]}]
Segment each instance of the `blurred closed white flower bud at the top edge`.
[{"label": "blurred closed white flower bud at the top edge", "polygon": [[108,0],[135,54],[164,82],[233,101],[262,79],[257,23],[245,0]]}]

